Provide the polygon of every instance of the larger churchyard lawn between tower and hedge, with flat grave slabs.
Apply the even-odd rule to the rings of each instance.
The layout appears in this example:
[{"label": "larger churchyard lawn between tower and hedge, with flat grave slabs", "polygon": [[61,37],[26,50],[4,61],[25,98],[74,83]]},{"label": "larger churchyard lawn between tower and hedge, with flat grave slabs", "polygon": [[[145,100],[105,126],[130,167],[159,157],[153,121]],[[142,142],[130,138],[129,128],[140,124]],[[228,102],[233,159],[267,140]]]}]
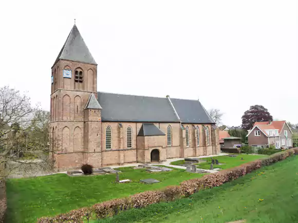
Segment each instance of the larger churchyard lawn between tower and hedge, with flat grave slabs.
[{"label": "larger churchyard lawn between tower and hedge, with flat grave slabs", "polygon": [[[154,190],[202,174],[174,169],[171,172],[148,173],[144,169],[119,168],[120,179],[131,179],[129,184],[116,184],[114,174],[102,176],[76,176],[54,174],[50,176],[7,180],[7,222],[35,222],[36,218],[53,216],[73,209],[92,206],[98,202],[146,190]],[[145,185],[140,179],[155,178],[161,183]]]}]

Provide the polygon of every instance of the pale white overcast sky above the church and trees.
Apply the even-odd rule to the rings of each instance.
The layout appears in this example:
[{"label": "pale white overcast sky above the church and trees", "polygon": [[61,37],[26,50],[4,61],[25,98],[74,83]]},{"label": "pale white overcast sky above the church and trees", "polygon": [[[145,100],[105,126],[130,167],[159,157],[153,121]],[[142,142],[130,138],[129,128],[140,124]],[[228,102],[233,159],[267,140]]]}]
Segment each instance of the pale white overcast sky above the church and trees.
[{"label": "pale white overcast sky above the church and trees", "polygon": [[251,105],[298,123],[296,1],[3,1],[1,80],[50,110],[73,19],[98,91],[198,99],[240,125]]}]

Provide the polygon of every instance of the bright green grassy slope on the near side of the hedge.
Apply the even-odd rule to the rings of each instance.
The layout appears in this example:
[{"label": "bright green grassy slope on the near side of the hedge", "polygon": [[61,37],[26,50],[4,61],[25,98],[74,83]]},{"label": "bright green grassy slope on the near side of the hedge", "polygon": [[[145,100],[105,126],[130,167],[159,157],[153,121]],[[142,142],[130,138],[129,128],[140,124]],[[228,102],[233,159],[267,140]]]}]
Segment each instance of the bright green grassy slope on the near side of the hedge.
[{"label": "bright green grassy slope on the near side of the hedge", "polygon": [[298,156],[293,156],[190,198],[131,209],[100,222],[298,222],[297,188]]}]

